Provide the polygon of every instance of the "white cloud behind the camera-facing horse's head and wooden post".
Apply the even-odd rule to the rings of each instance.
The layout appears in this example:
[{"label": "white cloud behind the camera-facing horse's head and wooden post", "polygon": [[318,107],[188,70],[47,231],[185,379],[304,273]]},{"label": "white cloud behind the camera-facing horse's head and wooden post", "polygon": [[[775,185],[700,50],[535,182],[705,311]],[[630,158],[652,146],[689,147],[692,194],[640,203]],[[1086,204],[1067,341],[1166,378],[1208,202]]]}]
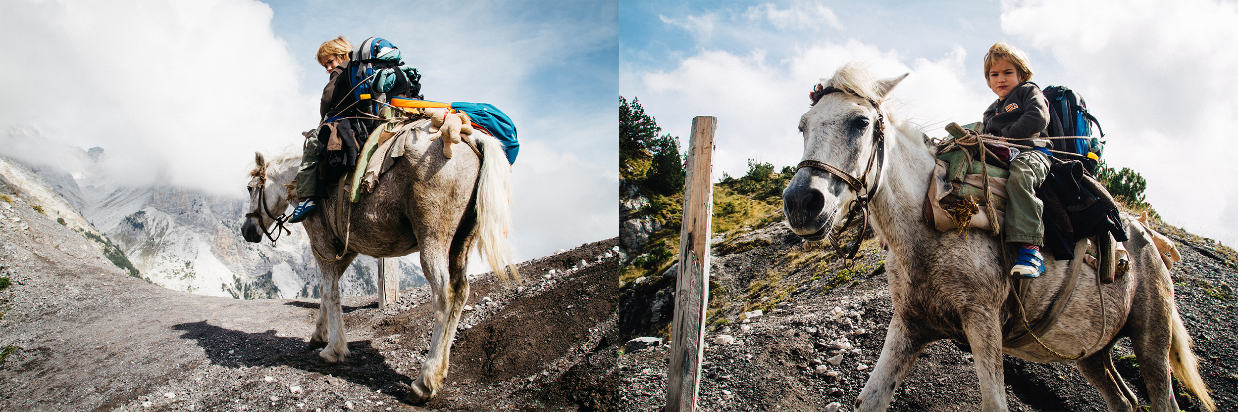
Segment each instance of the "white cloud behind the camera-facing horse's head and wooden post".
[{"label": "white cloud behind the camera-facing horse's head and wooden post", "polygon": [[919,58],[907,66],[898,53],[858,41],[801,47],[775,62],[760,51],[745,56],[703,51],[669,72],[625,74],[635,79],[625,93],[639,97],[664,132],[683,144],[692,116],[717,116],[714,178],[721,178],[723,172],[744,174],[749,158],[776,167],[799,163],[803,140],[796,126],[808,109],[808,92],[847,62],[862,62],[879,77],[911,73],[891,98],[920,125],[940,130],[948,121],[979,121],[988,98],[979,82],[963,78],[964,58],[962,47],[956,47],[938,59]]}]

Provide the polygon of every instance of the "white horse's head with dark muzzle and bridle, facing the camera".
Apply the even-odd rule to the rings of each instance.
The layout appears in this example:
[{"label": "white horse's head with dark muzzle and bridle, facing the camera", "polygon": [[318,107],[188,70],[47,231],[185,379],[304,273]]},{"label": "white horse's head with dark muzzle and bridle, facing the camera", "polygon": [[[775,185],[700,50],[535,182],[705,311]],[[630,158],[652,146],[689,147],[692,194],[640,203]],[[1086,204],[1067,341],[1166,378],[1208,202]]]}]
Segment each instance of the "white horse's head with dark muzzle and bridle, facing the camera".
[{"label": "white horse's head with dark muzzle and bridle, facing the camera", "polygon": [[906,74],[873,79],[847,64],[813,89],[800,118],[803,157],[782,191],[782,210],[796,235],[821,240],[846,229],[847,217],[879,183],[884,134],[893,129],[881,100]]}]

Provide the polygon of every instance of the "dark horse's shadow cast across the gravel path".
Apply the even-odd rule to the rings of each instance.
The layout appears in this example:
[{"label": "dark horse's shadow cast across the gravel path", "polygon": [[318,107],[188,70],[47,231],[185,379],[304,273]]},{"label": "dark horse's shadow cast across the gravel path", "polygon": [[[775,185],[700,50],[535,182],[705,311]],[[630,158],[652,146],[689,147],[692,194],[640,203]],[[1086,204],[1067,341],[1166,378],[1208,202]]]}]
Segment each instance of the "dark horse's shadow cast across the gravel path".
[{"label": "dark horse's shadow cast across the gravel path", "polygon": [[181,339],[197,340],[212,364],[240,369],[241,366],[291,366],[307,372],[331,375],[370,390],[404,400],[412,380],[387,366],[386,356],[369,340],[349,341],[348,359],[332,366],[317,366],[317,350],[305,339],[277,337],[275,330],[245,333],[202,322],[172,327],[182,330]]}]

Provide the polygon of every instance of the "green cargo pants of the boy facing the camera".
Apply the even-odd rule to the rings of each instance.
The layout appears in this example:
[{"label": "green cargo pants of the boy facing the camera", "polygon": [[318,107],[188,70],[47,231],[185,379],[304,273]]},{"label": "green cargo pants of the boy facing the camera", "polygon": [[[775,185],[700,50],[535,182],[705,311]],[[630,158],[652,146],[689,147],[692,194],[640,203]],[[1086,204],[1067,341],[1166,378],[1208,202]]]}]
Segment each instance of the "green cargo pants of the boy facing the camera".
[{"label": "green cargo pants of the boy facing the camera", "polygon": [[1006,213],[1003,231],[1006,242],[1025,242],[1042,246],[1045,224],[1041,221],[1045,205],[1036,198],[1036,188],[1049,174],[1049,156],[1039,150],[1019,152],[1010,161],[1010,178],[1006,181]]}]

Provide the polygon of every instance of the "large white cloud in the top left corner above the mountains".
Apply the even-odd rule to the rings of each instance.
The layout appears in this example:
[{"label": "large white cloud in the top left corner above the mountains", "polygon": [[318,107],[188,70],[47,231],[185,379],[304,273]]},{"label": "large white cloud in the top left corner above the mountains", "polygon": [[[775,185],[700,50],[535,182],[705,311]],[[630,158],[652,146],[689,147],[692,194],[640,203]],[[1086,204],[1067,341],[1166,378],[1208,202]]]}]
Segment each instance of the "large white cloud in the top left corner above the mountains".
[{"label": "large white cloud in the top left corner above the mountains", "polygon": [[[131,182],[244,187],[244,151],[317,118],[271,10],[254,1],[5,4],[0,125],[102,146]],[[134,24],[140,22],[140,24]]]}]

